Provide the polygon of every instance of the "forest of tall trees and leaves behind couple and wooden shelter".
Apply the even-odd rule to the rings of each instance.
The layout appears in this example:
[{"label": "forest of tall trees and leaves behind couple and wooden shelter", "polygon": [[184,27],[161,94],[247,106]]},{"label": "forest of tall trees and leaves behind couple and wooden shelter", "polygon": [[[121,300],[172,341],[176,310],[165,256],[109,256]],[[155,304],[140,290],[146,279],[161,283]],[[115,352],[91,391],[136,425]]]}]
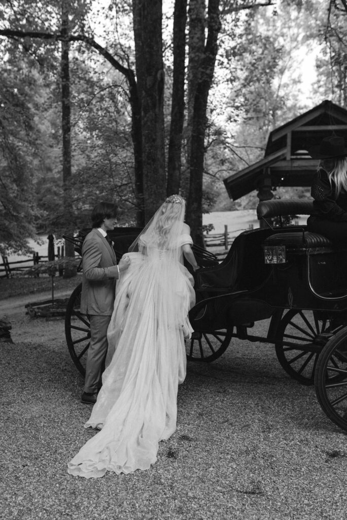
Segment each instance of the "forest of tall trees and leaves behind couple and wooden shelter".
[{"label": "forest of tall trees and leaves behind couple and wooden shelter", "polygon": [[0,0],[0,252],[97,200],[143,225],[178,191],[199,242],[202,212],[256,206],[222,180],[273,128],[347,108],[346,45],[346,0]]}]

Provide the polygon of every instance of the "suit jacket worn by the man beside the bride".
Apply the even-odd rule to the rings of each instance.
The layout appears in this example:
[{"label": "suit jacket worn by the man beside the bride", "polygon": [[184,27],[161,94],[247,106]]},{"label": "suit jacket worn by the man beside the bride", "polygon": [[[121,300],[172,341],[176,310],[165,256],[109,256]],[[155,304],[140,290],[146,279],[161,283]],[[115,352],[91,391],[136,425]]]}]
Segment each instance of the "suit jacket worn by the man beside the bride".
[{"label": "suit jacket worn by the man beside the bride", "polygon": [[82,265],[81,313],[111,316],[117,260],[112,246],[96,228],[84,239]]}]

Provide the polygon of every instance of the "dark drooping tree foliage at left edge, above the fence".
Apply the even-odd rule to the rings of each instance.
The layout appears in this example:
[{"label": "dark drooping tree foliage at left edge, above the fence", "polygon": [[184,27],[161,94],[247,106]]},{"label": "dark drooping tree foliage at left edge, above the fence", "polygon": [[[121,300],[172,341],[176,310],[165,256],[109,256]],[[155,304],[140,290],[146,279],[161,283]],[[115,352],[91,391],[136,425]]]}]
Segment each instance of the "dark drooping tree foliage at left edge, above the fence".
[{"label": "dark drooping tree foliage at left edge, above the fence", "polygon": [[39,78],[25,61],[0,63],[0,252],[28,252],[35,235],[38,133],[33,119]]}]

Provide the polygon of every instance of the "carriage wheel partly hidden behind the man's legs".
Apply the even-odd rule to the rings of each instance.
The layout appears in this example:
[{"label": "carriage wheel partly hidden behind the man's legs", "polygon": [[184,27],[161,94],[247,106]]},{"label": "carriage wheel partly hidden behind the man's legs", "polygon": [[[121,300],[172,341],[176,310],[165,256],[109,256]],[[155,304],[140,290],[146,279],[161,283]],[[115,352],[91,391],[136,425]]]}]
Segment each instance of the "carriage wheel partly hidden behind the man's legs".
[{"label": "carriage wheel partly hidden behind the man's legs", "polygon": [[82,283],[77,285],[69,298],[65,314],[65,337],[70,356],[76,368],[86,373],[87,350],[90,342],[90,325],[86,315],[81,314]]}]

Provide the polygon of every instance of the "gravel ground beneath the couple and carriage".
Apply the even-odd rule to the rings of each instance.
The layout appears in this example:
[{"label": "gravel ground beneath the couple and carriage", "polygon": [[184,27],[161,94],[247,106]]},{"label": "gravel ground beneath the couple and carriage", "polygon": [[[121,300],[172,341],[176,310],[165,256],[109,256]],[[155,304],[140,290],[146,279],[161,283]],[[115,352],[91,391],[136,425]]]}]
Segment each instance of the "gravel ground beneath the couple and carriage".
[{"label": "gravel ground beneath the couple and carriage", "polygon": [[[61,296],[61,294],[57,294]],[[12,519],[345,520],[346,433],[314,388],[289,379],[271,345],[234,341],[210,365],[189,363],[178,425],[149,471],[72,477],[66,463],[94,432],[61,319],[12,321],[0,343],[0,511]],[[265,334],[268,322],[257,324]]]}]

